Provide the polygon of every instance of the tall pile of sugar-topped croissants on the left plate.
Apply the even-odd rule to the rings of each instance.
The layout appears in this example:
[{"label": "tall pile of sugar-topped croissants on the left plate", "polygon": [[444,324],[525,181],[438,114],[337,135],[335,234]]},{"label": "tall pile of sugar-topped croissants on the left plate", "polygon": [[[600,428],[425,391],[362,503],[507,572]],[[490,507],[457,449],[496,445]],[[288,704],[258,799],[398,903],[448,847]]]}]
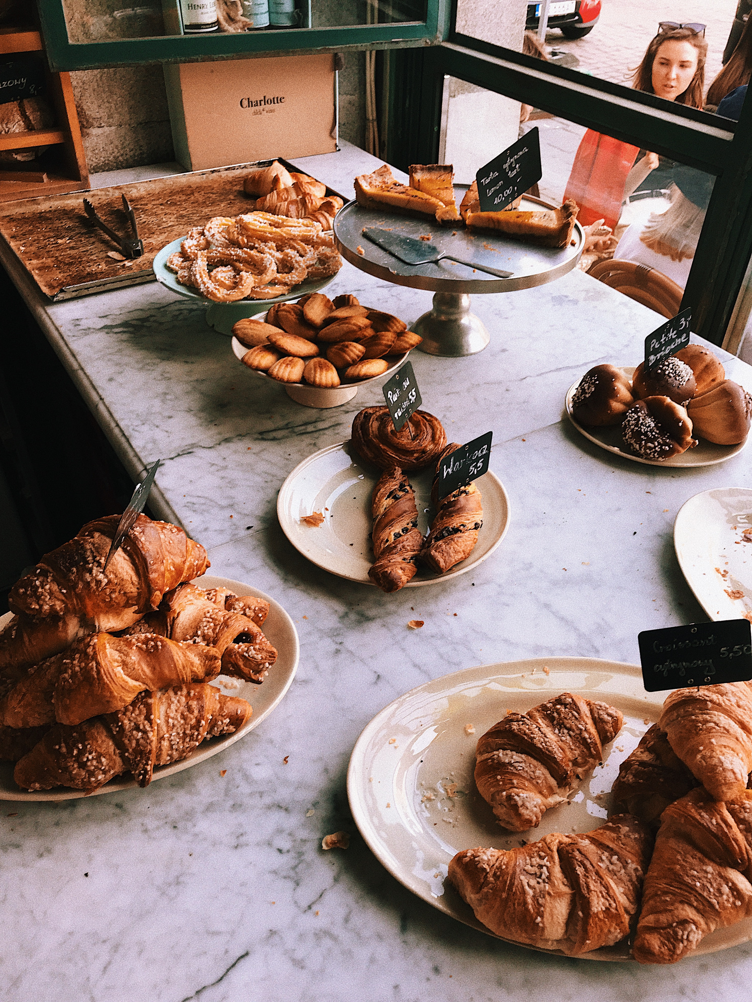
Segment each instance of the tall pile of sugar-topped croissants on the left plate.
[{"label": "tall pile of sugar-topped croissants on the left plate", "polygon": [[138,515],[106,566],[119,516],[89,522],[10,591],[0,632],[0,760],[19,787],[92,792],[233,733],[251,705],[209,682],[262,682],[277,651],[269,603],[192,584],[207,552]]}]

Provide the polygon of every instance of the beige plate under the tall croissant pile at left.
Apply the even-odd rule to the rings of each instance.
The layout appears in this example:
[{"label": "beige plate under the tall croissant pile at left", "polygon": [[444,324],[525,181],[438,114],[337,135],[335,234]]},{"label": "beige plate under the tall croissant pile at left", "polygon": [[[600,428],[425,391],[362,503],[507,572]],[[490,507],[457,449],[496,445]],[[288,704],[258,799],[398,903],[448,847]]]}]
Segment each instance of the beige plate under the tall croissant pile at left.
[{"label": "beige plate under the tall croissant pile at left", "polygon": [[[252,682],[241,682],[238,688],[225,688],[223,686],[223,676],[221,675],[213,684],[225,692],[226,695],[239,695],[248,699],[254,708],[251,719],[240,730],[234,734],[227,734],[225,737],[218,737],[214,740],[204,741],[187,759],[181,762],[172,763],[171,766],[159,766],[154,770],[152,782],[163,780],[166,776],[172,776],[183,769],[198,766],[200,762],[205,762],[223,752],[230,744],[247,734],[249,730],[266,719],[275,706],[280,702],[290,684],[295,677],[298,668],[298,657],[300,654],[300,644],[298,643],[298,631],[295,623],[290,618],[283,607],[275,602],[269,595],[265,595],[258,588],[252,588],[240,581],[233,581],[229,577],[215,577],[213,574],[205,574],[198,577],[195,584],[203,588],[230,588],[237,595],[256,595],[257,598],[266,598],[270,603],[269,615],[264,623],[264,632],[277,648],[277,661],[261,685],[254,685]],[[0,617],[0,629],[5,627],[11,619],[11,614]],[[70,801],[79,797],[96,797],[98,794],[114,794],[121,790],[130,790],[137,785],[132,779],[110,780],[108,784],[94,794],[84,794],[80,790],[46,790],[37,793],[27,793],[19,790],[13,782],[13,764],[0,763],[0,800],[2,801]]]}]

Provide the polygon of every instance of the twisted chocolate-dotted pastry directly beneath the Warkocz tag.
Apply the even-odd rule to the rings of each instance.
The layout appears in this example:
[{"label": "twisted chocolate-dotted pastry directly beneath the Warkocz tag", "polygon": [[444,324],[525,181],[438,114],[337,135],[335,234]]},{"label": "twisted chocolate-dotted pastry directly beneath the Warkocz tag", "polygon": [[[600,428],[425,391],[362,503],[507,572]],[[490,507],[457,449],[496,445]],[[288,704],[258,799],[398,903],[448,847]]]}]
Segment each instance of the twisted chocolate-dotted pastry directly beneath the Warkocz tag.
[{"label": "twisted chocolate-dotted pastry directly beneath the Warkocz tag", "polygon": [[459,487],[440,501],[436,500],[441,460],[455,449],[461,448],[456,442],[452,442],[444,449],[436,463],[433,477],[431,500],[436,505],[436,515],[420,551],[420,559],[437,574],[444,574],[470,555],[483,524],[483,506],[480,491],[475,484]]}]

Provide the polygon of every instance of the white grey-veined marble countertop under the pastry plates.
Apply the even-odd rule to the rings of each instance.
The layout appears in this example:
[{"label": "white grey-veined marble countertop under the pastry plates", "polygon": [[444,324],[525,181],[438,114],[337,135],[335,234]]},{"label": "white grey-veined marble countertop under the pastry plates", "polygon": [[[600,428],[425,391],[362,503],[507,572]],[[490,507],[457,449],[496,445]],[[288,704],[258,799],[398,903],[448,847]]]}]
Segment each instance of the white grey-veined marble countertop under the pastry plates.
[{"label": "white grey-veined marble countertop under the pastry plates", "polygon": [[[298,162],[347,194],[354,173],[379,161],[345,147]],[[702,469],[643,466],[562,417],[567,389],[591,366],[639,362],[656,314],[576,271],[474,297],[491,334],[479,355],[412,354],[423,406],[450,438],[492,429],[511,521],[473,573],[384,596],[306,561],[275,507],[294,466],[383,402],[379,386],[309,410],[244,369],[202,307],[161,287],[48,305],[3,260],[133,477],[163,460],[159,514],[209,548],[212,572],[277,598],[302,653],[284,701],[222,756],[146,791],[4,805],[0,998],[746,997],[752,945],[642,968],[534,953],[453,921],[371,855],[345,790],[362,728],[427,679],[527,656],[636,663],[640,630],[706,618],[674,555],[674,518],[700,491],[752,487],[749,453]],[[327,293],[355,293],[407,322],[431,301],[347,264]],[[752,368],[717,351],[752,390]],[[422,629],[407,628],[413,618]],[[322,837],[341,829],[350,849],[323,852]]]}]

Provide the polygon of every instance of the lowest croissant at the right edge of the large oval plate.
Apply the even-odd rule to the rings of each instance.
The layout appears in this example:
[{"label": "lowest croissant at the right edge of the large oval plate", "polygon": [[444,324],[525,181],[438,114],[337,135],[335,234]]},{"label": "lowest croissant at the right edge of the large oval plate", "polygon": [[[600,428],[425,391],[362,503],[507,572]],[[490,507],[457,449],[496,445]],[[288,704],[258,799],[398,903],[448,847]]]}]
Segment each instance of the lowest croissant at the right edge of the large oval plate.
[{"label": "lowest croissant at the right edge of the large oval plate", "polygon": [[714,929],[752,915],[752,801],[721,803],[702,788],[663,813],[645,878],[633,954],[673,964]]}]

